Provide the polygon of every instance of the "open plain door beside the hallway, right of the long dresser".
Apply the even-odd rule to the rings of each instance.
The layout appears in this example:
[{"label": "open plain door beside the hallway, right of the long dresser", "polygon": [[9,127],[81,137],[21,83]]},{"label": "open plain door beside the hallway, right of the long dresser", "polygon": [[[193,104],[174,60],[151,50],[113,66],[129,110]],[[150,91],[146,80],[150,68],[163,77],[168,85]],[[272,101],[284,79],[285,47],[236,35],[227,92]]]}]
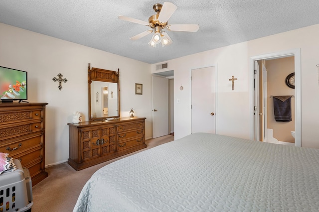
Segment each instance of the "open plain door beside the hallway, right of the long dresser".
[{"label": "open plain door beside the hallway, right of the long dresser", "polygon": [[169,134],[168,79],[153,76],[153,138]]}]

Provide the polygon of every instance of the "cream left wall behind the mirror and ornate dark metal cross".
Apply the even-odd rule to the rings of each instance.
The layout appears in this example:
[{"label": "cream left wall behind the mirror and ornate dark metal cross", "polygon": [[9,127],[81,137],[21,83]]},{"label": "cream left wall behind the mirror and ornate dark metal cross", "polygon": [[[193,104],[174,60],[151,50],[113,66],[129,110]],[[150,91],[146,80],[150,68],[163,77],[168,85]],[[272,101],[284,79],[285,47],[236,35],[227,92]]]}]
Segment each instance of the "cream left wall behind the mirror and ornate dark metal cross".
[{"label": "cream left wall behind the mirror and ornate dark metal cross", "polygon": [[[28,72],[28,101],[46,102],[45,165],[69,157],[68,122],[79,111],[88,120],[87,67],[120,69],[121,116],[147,117],[146,138],[152,137],[151,65],[79,44],[0,23],[0,65]],[[67,83],[52,78],[61,73]],[[143,95],[135,95],[135,83]]]}]

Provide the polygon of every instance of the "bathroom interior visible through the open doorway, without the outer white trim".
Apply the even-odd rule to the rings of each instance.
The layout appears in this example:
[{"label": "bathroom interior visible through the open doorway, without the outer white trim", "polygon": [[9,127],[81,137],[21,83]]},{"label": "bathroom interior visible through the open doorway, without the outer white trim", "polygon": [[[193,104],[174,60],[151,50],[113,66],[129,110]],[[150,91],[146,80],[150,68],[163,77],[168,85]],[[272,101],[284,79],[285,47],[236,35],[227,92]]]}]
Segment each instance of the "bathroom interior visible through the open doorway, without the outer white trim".
[{"label": "bathroom interior visible through the open doorway, without the outer white trim", "polygon": [[[259,80],[259,95],[256,97],[259,100],[259,141],[295,145],[292,135],[296,120],[295,89],[291,85],[294,83],[291,77],[295,73],[294,61],[294,56],[255,61],[255,80]],[[283,101],[278,102],[274,99],[276,97]],[[275,114],[282,112],[276,110],[278,106],[274,110],[276,103],[287,106],[283,109],[291,114],[290,120],[276,120]]]}]

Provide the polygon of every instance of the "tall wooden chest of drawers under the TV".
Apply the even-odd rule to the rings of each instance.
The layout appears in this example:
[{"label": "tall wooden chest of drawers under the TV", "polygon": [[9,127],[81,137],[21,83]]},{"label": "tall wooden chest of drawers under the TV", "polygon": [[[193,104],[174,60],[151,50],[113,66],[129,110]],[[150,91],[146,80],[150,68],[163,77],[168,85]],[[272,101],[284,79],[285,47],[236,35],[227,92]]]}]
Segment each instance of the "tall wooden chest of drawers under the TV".
[{"label": "tall wooden chest of drawers under the TV", "polygon": [[44,171],[45,106],[47,103],[0,103],[0,152],[29,169],[32,186]]}]

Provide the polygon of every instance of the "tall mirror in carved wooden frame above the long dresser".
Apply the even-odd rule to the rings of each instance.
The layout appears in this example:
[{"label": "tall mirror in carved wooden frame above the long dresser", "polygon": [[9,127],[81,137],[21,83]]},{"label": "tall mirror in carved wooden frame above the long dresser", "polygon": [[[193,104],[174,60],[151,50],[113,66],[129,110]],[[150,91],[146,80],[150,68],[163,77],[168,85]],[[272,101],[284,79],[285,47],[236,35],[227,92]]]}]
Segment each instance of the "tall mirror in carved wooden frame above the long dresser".
[{"label": "tall mirror in carved wooden frame above the long dresser", "polygon": [[120,117],[119,70],[88,67],[89,120]]}]

